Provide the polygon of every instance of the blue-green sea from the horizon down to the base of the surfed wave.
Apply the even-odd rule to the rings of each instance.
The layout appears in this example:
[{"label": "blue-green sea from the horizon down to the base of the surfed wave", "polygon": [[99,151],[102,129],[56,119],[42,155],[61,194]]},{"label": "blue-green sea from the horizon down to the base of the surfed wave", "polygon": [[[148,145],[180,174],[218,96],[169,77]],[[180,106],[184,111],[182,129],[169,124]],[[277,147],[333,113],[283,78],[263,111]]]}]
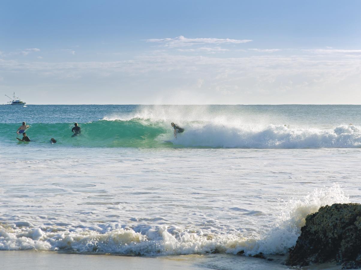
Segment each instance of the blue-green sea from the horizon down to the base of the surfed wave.
[{"label": "blue-green sea from the horizon down to the base of the surfed wave", "polygon": [[[77,147],[355,148],[360,116],[358,105],[5,105],[0,141],[17,142],[14,131],[26,121],[36,145],[55,138]],[[186,130],[177,139],[170,122]]]}]

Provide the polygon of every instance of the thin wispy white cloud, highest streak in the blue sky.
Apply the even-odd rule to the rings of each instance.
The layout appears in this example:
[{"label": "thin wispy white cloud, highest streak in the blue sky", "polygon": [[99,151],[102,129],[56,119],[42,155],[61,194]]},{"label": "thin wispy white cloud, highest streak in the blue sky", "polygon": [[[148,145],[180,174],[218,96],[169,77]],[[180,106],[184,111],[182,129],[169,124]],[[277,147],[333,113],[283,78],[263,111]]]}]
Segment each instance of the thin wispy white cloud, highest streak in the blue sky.
[{"label": "thin wispy white cloud, highest streak in the blue sky", "polygon": [[147,42],[163,43],[165,47],[184,47],[195,44],[239,44],[251,42],[251,39],[218,39],[218,38],[185,38],[177,36],[176,38],[165,39],[146,39]]}]

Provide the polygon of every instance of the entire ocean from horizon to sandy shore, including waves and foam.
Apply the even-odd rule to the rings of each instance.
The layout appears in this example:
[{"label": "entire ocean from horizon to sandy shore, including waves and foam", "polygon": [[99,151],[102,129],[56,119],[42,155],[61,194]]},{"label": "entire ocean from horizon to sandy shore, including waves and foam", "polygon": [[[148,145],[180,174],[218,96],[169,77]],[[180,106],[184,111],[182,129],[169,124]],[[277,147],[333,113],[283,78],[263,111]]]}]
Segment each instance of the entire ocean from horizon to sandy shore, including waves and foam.
[{"label": "entire ocean from horizon to sandy shore, including waves and foam", "polygon": [[307,214],[361,203],[360,147],[360,105],[3,105],[0,257],[287,269]]}]

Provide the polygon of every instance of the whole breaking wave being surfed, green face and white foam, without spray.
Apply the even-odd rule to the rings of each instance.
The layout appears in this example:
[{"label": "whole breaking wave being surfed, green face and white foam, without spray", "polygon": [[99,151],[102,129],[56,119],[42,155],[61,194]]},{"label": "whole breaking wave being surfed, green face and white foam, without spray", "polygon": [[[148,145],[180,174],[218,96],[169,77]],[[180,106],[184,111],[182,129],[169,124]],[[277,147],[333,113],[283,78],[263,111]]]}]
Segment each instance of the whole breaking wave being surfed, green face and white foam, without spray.
[{"label": "whole breaking wave being surfed, green face and white foam, without spray", "polygon": [[[357,148],[361,129],[340,125],[332,129],[297,128],[284,125],[240,125],[219,121],[183,121],[185,132],[173,136],[170,121],[142,118],[79,123],[82,135],[71,137],[70,123],[33,123],[27,135],[36,144],[78,147],[209,147],[209,148]],[[0,124],[0,139],[16,143],[18,124]],[[20,136],[20,135],[19,135]],[[20,137],[19,137],[20,138]]]}]

